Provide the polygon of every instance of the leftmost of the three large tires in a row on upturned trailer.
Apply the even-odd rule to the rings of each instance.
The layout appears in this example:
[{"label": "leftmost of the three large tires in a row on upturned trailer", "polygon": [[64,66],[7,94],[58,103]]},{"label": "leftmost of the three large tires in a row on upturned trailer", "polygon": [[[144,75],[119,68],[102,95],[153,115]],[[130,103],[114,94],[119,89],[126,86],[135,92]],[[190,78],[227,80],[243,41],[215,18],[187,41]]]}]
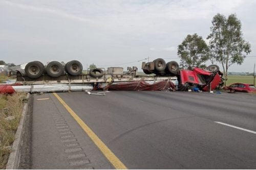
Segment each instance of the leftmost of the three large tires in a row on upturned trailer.
[{"label": "leftmost of the three large tires in a row on upturned trailer", "polygon": [[25,73],[29,78],[39,78],[45,71],[45,66],[40,61],[29,62],[25,66]]}]

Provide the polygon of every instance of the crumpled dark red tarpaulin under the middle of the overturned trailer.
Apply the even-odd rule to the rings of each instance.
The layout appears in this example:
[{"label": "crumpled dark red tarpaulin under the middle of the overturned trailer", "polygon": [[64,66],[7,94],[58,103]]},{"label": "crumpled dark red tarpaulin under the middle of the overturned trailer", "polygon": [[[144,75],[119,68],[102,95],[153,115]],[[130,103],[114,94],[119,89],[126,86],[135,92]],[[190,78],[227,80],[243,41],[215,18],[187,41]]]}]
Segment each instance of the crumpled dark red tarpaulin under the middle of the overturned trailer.
[{"label": "crumpled dark red tarpaulin under the middle of the overturned trailer", "polygon": [[94,90],[176,90],[176,86],[173,82],[163,80],[153,84],[149,84],[145,81],[134,81],[117,84],[109,84],[105,87],[95,86]]}]

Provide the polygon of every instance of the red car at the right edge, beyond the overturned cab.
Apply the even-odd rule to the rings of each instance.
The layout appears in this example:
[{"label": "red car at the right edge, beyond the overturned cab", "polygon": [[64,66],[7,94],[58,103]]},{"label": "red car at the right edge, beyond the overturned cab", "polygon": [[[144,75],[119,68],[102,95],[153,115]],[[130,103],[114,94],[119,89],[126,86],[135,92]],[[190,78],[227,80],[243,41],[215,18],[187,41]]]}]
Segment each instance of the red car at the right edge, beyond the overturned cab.
[{"label": "red car at the right edge, beyond the overturned cab", "polygon": [[246,84],[246,83],[234,83],[227,87],[227,90],[230,92],[240,91],[240,92],[256,92],[256,88],[253,84]]}]

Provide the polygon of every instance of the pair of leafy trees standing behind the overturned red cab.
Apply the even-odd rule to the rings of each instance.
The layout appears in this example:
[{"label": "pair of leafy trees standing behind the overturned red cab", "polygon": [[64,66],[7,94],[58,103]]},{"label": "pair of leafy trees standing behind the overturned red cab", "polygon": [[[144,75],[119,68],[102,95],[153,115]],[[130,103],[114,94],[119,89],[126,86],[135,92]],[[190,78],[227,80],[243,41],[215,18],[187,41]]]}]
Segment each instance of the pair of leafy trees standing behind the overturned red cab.
[{"label": "pair of leafy trees standing behind the overturned red cab", "polygon": [[218,13],[211,23],[208,45],[197,34],[187,35],[178,45],[177,54],[183,68],[205,67],[208,60],[221,63],[226,84],[228,68],[235,63],[241,65],[251,52],[251,45],[243,38],[242,24],[236,14],[226,17]]}]

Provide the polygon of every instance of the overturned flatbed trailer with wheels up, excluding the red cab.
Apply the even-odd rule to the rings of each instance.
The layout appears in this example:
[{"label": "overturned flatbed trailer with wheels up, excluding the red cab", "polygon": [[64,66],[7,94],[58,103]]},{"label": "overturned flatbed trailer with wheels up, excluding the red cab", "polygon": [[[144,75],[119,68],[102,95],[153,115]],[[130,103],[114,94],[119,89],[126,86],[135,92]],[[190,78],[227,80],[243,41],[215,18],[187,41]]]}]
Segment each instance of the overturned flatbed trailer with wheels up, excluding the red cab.
[{"label": "overturned flatbed trailer with wheels up, excluding the red cab", "polygon": [[127,71],[122,67],[82,70],[82,64],[76,60],[47,65],[33,61],[25,68],[10,71],[10,76],[16,79],[11,91],[176,90],[178,86],[176,76],[139,76],[137,67],[128,67]]}]

